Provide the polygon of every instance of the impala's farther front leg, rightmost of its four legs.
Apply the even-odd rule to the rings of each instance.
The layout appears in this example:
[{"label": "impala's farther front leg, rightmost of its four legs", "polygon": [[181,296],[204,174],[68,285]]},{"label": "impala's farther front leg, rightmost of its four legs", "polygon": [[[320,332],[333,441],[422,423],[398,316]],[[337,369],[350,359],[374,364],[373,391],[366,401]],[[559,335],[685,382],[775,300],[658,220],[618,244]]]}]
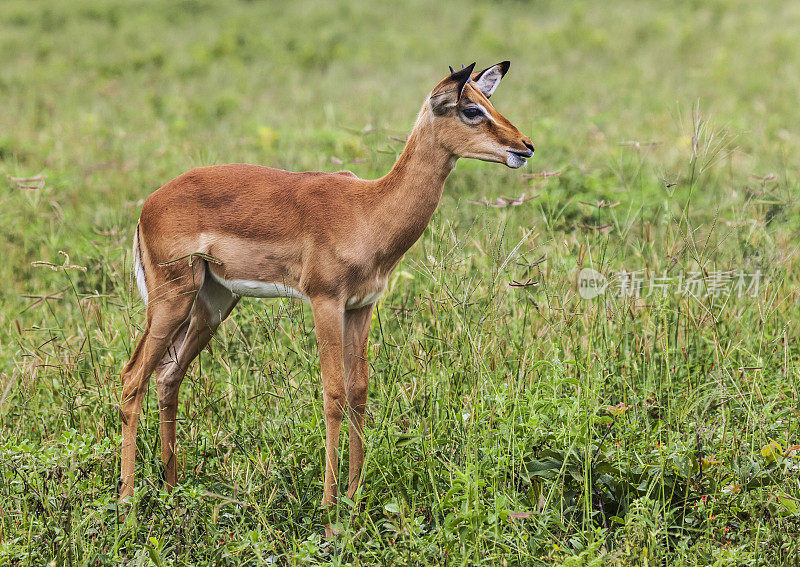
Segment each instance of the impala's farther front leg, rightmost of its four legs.
[{"label": "impala's farther front leg, rightmost of its four legs", "polygon": [[369,387],[367,338],[373,307],[374,304],[371,304],[344,312],[344,370],[350,418],[348,498],[352,498],[358,489],[364,464],[364,411]]}]

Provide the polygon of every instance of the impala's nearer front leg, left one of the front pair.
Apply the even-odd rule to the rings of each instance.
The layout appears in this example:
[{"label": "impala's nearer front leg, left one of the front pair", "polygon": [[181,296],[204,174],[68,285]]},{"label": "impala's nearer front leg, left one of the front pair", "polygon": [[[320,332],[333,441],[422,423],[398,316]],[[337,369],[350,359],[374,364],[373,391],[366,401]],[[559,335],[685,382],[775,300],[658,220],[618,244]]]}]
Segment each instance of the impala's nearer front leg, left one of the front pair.
[{"label": "impala's nearer front leg, left one of the front pair", "polygon": [[[336,503],[339,448],[339,429],[345,405],[345,386],[342,375],[342,322],[344,305],[341,301],[312,299],[314,326],[317,332],[320,369],[322,370],[322,395],[325,411],[325,493],[323,506]],[[329,526],[325,527],[328,536]]]}]

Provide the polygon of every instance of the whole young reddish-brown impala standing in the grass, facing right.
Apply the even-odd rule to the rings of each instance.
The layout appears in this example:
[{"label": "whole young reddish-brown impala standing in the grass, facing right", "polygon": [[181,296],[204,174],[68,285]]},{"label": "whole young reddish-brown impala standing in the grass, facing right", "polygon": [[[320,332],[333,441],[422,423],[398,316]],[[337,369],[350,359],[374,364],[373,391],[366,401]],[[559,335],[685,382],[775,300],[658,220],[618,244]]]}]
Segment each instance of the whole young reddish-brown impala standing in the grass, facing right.
[{"label": "whole young reddish-brown impala standing in the grass, facing right", "polygon": [[323,505],[335,502],[336,453],[350,420],[348,495],[363,464],[372,309],[420,237],[460,157],[517,168],[531,140],[489,97],[509,62],[452,72],[425,100],[392,170],[291,173],[257,165],[193,169],[145,201],[133,242],[147,323],[122,372],[120,498],[133,494],[136,428],[156,372],[161,458],[176,483],[175,418],[186,370],[242,296],[296,297],[314,315],[325,414]]}]

